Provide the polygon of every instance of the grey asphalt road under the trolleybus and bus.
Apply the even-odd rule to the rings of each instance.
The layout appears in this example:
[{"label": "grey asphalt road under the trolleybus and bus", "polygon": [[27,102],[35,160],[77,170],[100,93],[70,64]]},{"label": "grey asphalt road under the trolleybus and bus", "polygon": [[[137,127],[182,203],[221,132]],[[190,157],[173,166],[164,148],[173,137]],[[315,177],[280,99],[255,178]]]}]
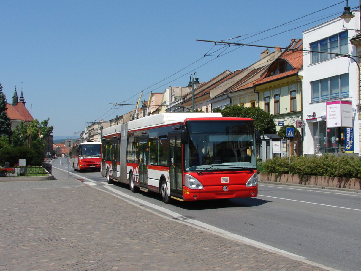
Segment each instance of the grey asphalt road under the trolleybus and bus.
[{"label": "grey asphalt road under the trolleybus and bus", "polygon": [[[52,165],[67,173],[66,159],[55,159]],[[166,205],[155,193],[131,193],[122,184],[104,185],[99,172],[79,173],[70,168],[70,177],[121,193],[152,211],[179,214],[205,223],[203,227],[216,227],[339,270],[361,270],[361,193],[261,183],[257,198]]]}]

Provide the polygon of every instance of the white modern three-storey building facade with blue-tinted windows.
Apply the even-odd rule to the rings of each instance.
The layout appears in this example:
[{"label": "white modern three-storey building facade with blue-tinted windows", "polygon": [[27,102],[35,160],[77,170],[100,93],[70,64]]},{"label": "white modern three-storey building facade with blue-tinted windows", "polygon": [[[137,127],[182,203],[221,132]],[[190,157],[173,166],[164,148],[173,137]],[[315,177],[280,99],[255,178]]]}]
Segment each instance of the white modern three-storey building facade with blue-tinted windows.
[{"label": "white modern three-storey building facade with blue-tinted windows", "polygon": [[305,50],[327,52],[303,55],[305,155],[359,154],[357,59],[337,55],[356,55],[356,47],[349,40],[358,33],[360,20],[358,10],[353,13],[355,18],[348,23],[337,17],[302,33]]}]

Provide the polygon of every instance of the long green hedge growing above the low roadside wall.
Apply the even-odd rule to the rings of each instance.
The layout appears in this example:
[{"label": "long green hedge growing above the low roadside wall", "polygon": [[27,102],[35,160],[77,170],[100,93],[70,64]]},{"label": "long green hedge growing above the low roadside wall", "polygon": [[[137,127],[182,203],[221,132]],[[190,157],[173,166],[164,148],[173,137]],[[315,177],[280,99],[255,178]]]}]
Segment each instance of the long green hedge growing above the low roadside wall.
[{"label": "long green hedge growing above the low roadside wall", "polygon": [[329,154],[321,157],[292,156],[290,162],[287,157],[276,157],[259,165],[258,170],[261,173],[361,178],[361,159],[354,156],[336,157]]}]

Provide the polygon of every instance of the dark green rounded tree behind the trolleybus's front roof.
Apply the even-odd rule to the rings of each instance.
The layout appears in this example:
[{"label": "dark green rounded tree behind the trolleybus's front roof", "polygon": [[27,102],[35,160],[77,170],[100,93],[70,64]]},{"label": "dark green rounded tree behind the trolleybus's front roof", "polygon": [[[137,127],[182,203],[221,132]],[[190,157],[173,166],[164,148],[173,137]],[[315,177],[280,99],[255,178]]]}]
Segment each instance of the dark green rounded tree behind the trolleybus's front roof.
[{"label": "dark green rounded tree behind the trolleybus's front roof", "polygon": [[259,107],[226,106],[224,109],[216,108],[213,112],[221,112],[223,117],[244,117],[254,121],[255,129],[261,134],[275,134],[276,124],[273,115]]}]

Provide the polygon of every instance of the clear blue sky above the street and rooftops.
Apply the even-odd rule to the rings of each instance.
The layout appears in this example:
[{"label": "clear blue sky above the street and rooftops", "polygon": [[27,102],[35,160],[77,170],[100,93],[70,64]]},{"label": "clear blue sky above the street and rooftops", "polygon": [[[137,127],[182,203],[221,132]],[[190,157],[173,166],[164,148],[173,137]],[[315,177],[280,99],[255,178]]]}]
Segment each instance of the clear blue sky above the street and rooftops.
[{"label": "clear blue sky above the street and rooftops", "polygon": [[[208,81],[224,70],[247,67],[265,49],[230,47],[212,53],[219,57],[204,56],[222,46],[196,39],[241,35],[230,41],[286,47],[292,38],[302,38],[303,30],[339,16],[346,1],[340,2],[3,0],[0,83],[8,102],[15,86],[18,95],[22,87],[34,118],[49,117],[55,136],[73,136],[86,122],[134,108],[110,103],[136,103],[142,90],[148,100],[151,90],[186,86],[194,71],[201,82]],[[355,8],[359,1],[348,4]]]}]

